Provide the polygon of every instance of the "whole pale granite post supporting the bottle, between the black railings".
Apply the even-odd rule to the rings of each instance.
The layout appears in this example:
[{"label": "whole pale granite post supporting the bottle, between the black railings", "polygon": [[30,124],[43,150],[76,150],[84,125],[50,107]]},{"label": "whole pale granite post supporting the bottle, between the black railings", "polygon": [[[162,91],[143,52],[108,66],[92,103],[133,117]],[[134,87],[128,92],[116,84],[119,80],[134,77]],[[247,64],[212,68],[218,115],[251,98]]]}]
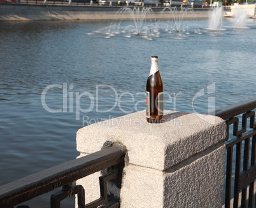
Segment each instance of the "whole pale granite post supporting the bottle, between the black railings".
[{"label": "whole pale granite post supporting the bottle, between the black railings", "polygon": [[[225,121],[215,116],[165,111],[147,123],[145,111],[78,130],[81,155],[113,144],[127,148],[122,186],[110,186],[121,208],[222,207]],[[86,203],[99,198],[99,173],[78,181]]]}]

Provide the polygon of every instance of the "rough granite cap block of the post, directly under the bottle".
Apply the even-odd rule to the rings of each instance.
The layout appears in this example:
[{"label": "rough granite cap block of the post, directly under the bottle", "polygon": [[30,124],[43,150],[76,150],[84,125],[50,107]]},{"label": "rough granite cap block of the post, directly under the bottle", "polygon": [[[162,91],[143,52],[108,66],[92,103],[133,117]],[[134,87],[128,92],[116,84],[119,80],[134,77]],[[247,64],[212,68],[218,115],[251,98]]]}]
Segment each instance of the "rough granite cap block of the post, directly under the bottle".
[{"label": "rough granite cap block of the post, directly under the bottle", "polygon": [[162,123],[148,123],[145,111],[80,128],[77,150],[94,153],[118,143],[126,146],[129,163],[166,170],[225,140],[225,121],[207,114],[164,111]]}]

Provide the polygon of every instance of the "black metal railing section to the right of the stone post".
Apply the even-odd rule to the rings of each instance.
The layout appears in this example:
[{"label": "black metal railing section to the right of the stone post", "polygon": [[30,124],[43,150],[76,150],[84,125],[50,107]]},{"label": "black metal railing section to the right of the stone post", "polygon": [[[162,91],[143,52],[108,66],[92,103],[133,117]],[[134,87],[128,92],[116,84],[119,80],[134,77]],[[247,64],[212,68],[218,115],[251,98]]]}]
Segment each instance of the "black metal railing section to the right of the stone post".
[{"label": "black metal railing section to the right of the stone post", "polygon": [[[256,179],[256,97],[222,107],[215,114],[227,123],[225,208],[254,207]],[[248,122],[248,120],[250,120]]]}]

